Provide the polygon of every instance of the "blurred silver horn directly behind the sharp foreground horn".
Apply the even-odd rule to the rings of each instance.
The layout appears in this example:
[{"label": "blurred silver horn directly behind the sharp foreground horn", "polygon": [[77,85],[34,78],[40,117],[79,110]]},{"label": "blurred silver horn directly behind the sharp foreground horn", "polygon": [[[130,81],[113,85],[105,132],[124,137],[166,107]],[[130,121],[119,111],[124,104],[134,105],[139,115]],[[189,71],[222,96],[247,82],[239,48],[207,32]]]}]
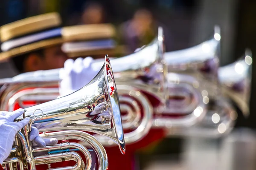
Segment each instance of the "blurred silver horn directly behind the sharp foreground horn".
[{"label": "blurred silver horn directly behind the sharp foreground horn", "polygon": [[[148,60],[145,60],[145,55]],[[93,67],[99,68],[101,63],[101,61],[94,62]],[[144,46],[134,54],[112,59],[111,65],[112,68],[114,67],[121,112],[125,114],[123,115],[123,127],[124,130],[129,130],[125,133],[125,142],[126,144],[137,142],[148,133],[153,118],[153,107],[142,91],[147,91],[163,103],[167,96],[162,28],[159,28],[159,35],[151,44]],[[152,72],[156,75],[151,75]],[[24,108],[23,101],[33,100],[42,103],[56,99],[59,95],[58,81],[59,69],[24,73],[12,79],[5,79],[3,80],[5,85],[2,88],[5,91],[2,94],[3,99],[14,102],[5,102],[2,107],[11,111],[15,103],[19,103],[20,107]],[[14,82],[24,82],[26,85],[8,85]],[[113,141],[102,136],[97,136],[97,139],[104,146],[114,144]]]}]

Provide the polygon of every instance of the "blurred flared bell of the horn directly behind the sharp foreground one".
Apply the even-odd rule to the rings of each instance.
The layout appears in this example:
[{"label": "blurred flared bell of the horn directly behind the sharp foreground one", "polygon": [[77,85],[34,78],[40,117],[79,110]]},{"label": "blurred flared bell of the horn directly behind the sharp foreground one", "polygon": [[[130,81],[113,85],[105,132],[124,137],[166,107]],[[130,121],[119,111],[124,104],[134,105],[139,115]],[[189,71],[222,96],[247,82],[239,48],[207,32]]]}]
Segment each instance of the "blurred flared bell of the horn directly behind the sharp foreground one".
[{"label": "blurred flared bell of the horn directly behind the sharp foreground one", "polygon": [[[158,28],[157,37],[148,45],[133,54],[111,60],[116,82],[144,88],[158,99],[167,99],[167,67],[163,53],[163,28]],[[93,68],[99,68],[100,62],[94,62]]]}]

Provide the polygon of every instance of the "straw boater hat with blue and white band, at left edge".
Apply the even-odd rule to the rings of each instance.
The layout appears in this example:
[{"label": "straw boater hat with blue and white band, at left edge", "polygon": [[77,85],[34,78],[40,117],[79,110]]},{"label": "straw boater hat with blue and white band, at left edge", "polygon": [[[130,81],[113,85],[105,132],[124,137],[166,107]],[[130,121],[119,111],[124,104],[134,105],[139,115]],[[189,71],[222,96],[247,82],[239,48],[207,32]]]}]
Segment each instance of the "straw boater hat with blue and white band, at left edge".
[{"label": "straw boater hat with blue and white band, at left edge", "polygon": [[42,14],[0,27],[0,61],[31,51],[61,44],[61,17],[58,13]]}]

